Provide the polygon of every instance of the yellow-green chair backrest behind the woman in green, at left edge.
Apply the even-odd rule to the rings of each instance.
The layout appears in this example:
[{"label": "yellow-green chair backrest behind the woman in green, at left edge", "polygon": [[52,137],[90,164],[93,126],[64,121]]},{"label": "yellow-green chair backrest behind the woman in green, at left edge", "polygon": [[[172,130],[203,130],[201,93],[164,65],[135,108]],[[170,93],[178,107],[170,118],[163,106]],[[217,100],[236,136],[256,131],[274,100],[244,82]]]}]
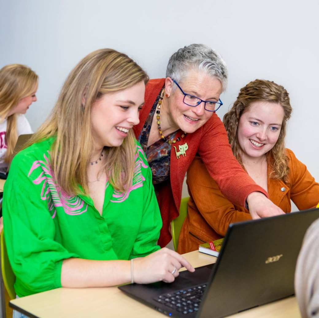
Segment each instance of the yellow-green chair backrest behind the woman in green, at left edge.
[{"label": "yellow-green chair backrest behind the woman in green, at left edge", "polygon": [[16,292],[14,290],[13,285],[16,281],[16,276],[12,272],[12,268],[9,262],[7,248],[4,242],[4,231],[2,231],[1,233],[0,241],[1,241],[1,271],[2,271],[4,286],[7,289],[10,299],[15,299]]}]

